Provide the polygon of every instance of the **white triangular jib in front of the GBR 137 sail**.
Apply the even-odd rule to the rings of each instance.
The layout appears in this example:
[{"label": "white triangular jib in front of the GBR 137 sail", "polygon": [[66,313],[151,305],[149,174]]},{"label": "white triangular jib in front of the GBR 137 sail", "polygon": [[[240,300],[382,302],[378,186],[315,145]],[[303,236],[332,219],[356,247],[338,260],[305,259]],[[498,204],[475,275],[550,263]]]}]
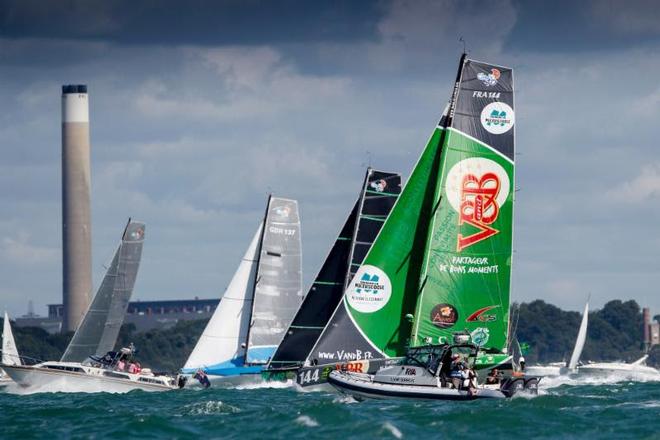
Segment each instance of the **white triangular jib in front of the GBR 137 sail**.
[{"label": "white triangular jib in front of the GBR 137 sail", "polygon": [[[252,238],[241,264],[238,266],[218,308],[206,325],[197,345],[183,367],[184,373],[194,373],[198,368],[228,368],[231,361],[245,355],[248,335],[254,279],[257,269],[257,249],[263,223]],[[236,367],[240,366],[234,364]]]}]

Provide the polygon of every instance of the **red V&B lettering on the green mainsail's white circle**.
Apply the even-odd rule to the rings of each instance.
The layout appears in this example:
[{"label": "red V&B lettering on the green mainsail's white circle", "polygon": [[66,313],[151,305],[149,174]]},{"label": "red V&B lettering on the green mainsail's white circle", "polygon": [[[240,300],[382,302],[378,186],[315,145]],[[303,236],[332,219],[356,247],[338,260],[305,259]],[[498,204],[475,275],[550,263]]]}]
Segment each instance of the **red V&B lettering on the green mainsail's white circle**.
[{"label": "red V&B lettering on the green mainsail's white circle", "polygon": [[467,223],[478,231],[468,236],[459,232],[456,246],[458,252],[500,232],[489,226],[500,213],[497,204],[499,192],[500,179],[495,173],[485,173],[481,178],[474,174],[463,176],[458,224],[462,226]]}]

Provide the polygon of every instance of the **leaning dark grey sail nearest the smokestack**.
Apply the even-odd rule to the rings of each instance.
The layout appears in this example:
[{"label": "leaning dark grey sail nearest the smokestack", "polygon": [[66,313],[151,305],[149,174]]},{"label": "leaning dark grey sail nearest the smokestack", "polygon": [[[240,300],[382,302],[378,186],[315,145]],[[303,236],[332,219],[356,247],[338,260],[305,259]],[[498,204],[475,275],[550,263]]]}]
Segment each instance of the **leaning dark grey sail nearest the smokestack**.
[{"label": "leaning dark grey sail nearest the smokestack", "polygon": [[62,362],[82,362],[114,348],[133,293],[144,243],[145,225],[128,222],[98,292],[62,356]]}]

